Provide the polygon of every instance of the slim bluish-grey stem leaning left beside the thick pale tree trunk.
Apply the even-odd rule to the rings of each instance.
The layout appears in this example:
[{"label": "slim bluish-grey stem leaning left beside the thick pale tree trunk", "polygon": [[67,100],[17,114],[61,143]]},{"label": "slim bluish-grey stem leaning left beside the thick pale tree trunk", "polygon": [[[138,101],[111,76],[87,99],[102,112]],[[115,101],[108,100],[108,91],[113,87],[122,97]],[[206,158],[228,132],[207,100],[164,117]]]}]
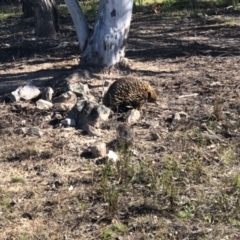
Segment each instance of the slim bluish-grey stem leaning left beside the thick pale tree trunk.
[{"label": "slim bluish-grey stem leaning left beside the thick pale tree trunk", "polygon": [[73,19],[80,50],[83,51],[88,38],[88,25],[77,0],[64,0]]}]

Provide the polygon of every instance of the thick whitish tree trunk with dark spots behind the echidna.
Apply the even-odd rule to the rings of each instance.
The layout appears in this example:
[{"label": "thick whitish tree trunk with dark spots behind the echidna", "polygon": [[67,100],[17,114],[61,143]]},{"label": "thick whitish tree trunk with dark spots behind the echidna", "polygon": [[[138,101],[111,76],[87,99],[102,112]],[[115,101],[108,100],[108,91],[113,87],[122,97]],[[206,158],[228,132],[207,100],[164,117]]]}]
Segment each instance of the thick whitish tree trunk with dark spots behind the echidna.
[{"label": "thick whitish tree trunk with dark spots behind the echidna", "polygon": [[82,55],[83,64],[110,67],[122,60],[132,7],[133,0],[100,0],[94,32]]}]

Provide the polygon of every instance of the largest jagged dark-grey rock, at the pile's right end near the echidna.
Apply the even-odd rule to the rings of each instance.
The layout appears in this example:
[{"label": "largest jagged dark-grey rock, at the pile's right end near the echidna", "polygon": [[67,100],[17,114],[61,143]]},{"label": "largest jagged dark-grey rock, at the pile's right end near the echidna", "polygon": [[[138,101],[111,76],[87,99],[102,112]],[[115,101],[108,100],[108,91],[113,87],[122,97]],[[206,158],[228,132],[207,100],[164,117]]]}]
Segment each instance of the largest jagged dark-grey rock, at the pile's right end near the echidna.
[{"label": "largest jagged dark-grey rock, at the pile's right end near the echidna", "polygon": [[103,121],[106,121],[111,110],[104,105],[87,100],[80,100],[72,108],[68,117],[76,119],[77,128],[88,124],[98,128]]}]

